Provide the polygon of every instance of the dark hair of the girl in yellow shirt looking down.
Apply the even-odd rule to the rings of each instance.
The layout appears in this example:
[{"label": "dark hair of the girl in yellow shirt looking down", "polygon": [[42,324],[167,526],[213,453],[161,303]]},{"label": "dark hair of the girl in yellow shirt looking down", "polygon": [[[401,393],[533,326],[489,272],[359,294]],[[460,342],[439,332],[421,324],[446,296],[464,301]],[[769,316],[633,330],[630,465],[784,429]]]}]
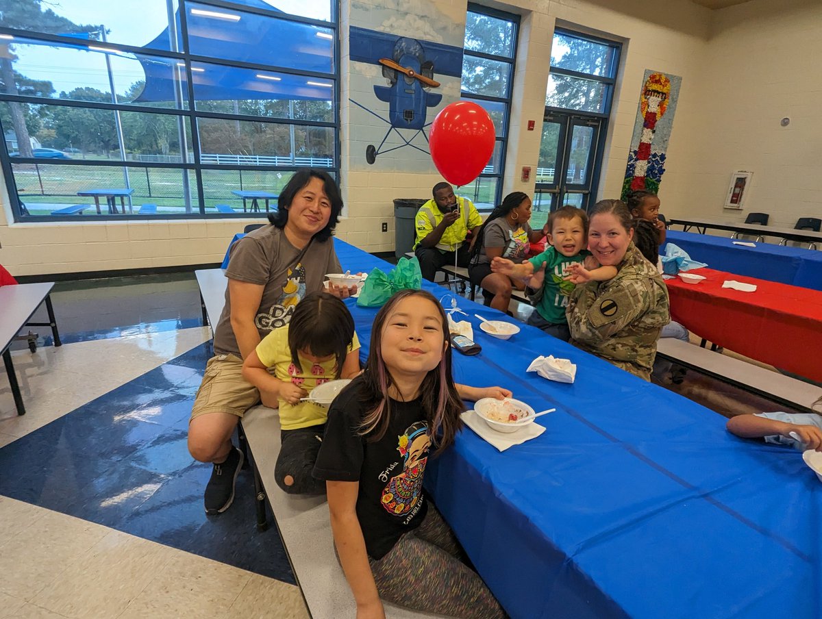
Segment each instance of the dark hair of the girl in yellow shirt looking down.
[{"label": "dark hair of the girl in yellow shirt looking down", "polygon": [[301,367],[300,350],[311,351],[316,357],[333,354],[339,378],[353,336],[354,321],[345,303],[333,294],[308,293],[294,308],[289,322],[291,363]]}]

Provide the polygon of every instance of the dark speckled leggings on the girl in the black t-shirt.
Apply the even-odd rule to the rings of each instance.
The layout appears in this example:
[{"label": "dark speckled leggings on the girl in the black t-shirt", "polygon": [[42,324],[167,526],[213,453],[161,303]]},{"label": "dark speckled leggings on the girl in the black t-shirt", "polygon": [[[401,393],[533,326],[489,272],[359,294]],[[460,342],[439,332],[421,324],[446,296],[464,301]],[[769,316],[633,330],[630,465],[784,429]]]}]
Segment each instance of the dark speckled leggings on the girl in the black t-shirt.
[{"label": "dark speckled leggings on the girl in the black t-shirt", "polygon": [[433,503],[417,529],[404,534],[385,557],[370,559],[380,598],[412,610],[465,619],[508,617]]}]

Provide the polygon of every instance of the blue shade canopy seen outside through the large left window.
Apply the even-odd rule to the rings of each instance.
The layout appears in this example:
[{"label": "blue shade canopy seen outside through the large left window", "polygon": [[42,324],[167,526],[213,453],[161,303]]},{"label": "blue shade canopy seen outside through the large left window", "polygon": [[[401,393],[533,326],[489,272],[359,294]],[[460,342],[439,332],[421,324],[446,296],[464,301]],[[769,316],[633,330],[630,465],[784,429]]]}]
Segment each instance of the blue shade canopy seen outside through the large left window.
[{"label": "blue shade canopy seen outside through the large left window", "polygon": [[[269,12],[279,12],[261,2],[246,0],[244,3],[266,8]],[[179,11],[175,21],[177,32],[180,33]],[[186,22],[188,49],[192,54],[235,62],[289,67],[296,71],[334,72],[333,29],[192,2],[187,2]],[[171,41],[169,29],[166,28],[148,46],[171,51]],[[182,43],[178,43],[178,49],[182,49]],[[173,101],[175,76],[169,75],[168,67],[158,67],[151,61],[145,62],[146,59],[141,56],[138,59],[145,71],[145,89],[136,102]],[[178,68],[183,72],[182,61],[179,64]],[[197,100],[328,101],[334,98],[335,92],[334,81],[330,78],[199,62],[192,63],[192,84]]]}]

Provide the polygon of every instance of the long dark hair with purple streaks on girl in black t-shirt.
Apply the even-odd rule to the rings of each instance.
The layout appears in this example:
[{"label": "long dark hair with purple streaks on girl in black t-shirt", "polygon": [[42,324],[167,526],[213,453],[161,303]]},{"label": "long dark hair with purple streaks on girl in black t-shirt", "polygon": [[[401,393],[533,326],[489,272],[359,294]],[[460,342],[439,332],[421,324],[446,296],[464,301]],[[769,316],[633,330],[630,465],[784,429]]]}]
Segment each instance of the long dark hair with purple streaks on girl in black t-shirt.
[{"label": "long dark hair with purple streaks on girl in black t-shirt", "polygon": [[[442,321],[442,341],[449,343],[445,352],[442,353],[440,363],[426,374],[419,387],[423,413],[431,432],[431,441],[437,447],[436,454],[439,454],[441,450],[454,442],[456,433],[462,427],[459,413],[462,413],[465,407],[457,394],[454,377],[451,376],[450,334],[446,312],[436,302],[434,295],[426,290],[400,290],[376,313],[371,331],[371,349],[368,353],[365,372],[363,372],[363,397],[367,412],[363,417],[363,423],[360,424],[359,433],[367,436],[368,441],[380,441],[386,436],[391,418],[388,388],[395,382],[386,363],[382,360],[382,331],[386,327],[386,322],[394,314],[397,304],[413,296],[426,298],[434,304]],[[291,320],[293,321],[293,318]]]}]

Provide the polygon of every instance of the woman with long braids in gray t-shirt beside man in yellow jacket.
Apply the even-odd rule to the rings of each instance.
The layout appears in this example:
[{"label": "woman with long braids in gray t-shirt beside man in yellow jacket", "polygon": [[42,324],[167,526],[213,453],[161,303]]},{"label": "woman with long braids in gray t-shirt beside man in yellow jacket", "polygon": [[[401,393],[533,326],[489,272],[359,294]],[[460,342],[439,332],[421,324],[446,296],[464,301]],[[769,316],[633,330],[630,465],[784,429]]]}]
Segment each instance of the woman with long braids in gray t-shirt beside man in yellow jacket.
[{"label": "woman with long braids in gray t-shirt beside man in yellow jacket", "polygon": [[513,192],[506,196],[500,206],[488,215],[473,243],[471,262],[468,267],[471,283],[481,286],[488,298],[493,295],[491,307],[501,312],[508,311],[511,290],[524,284],[514,281],[501,273],[492,273],[491,261],[496,256],[510,261],[522,262],[528,254],[529,243],[537,243],[547,233],[547,224],[542,230],[532,230],[531,198],[523,192]]}]

